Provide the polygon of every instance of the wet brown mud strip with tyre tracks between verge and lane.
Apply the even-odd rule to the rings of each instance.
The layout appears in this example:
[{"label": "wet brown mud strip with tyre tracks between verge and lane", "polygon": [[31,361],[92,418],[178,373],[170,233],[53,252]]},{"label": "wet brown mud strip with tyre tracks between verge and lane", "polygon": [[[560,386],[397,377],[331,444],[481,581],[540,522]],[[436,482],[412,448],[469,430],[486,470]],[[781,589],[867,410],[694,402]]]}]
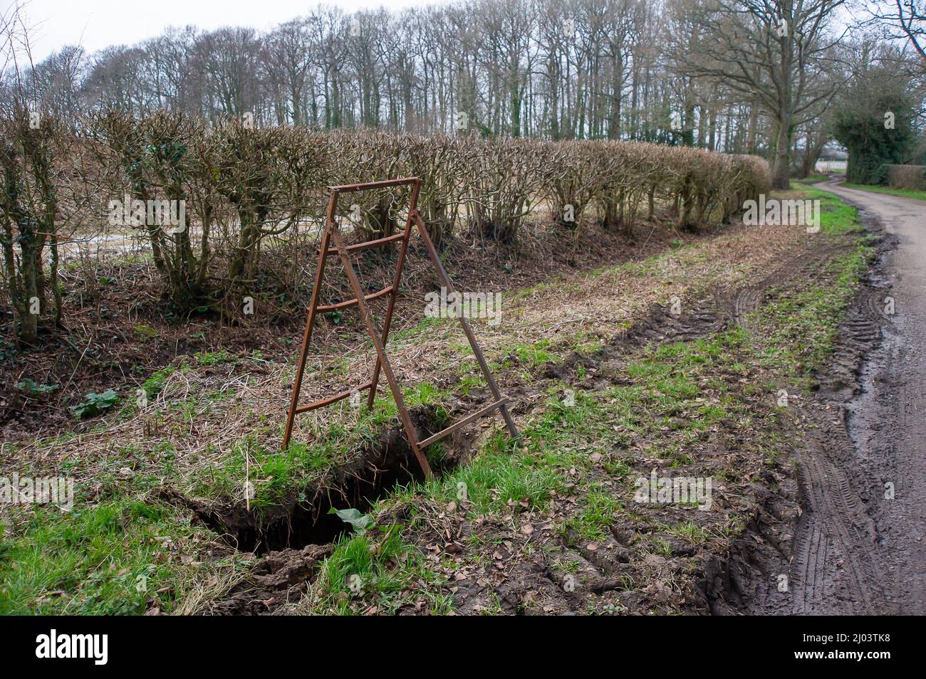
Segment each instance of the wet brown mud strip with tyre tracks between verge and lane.
[{"label": "wet brown mud strip with tyre tracks between verge and lane", "polygon": [[[791,420],[796,475],[789,476],[798,492],[779,485],[729,558],[712,564],[704,586],[715,613],[924,611],[922,511],[917,500],[898,501],[922,478],[921,453],[911,461],[897,450],[902,415],[923,398],[902,393],[911,366],[901,356],[916,341],[891,306],[903,241],[858,206],[879,239],[877,263],[839,329],[832,363],[817,376],[815,398]],[[912,577],[898,578],[904,572]]]}]

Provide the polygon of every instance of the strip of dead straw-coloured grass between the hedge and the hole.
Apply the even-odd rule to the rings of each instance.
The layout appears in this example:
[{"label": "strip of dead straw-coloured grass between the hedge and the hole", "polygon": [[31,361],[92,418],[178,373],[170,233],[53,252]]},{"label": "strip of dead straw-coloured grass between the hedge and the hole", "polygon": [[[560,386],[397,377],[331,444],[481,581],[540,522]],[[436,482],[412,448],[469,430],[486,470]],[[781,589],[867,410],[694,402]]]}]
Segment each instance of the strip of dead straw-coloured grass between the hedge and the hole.
[{"label": "strip of dead straw-coloured grass between the hedge and the hole", "polygon": [[[476,333],[496,366],[519,347],[538,340],[561,346],[578,343],[583,337],[612,337],[653,304],[668,305],[673,295],[684,303],[709,287],[743,284],[751,274],[766,270],[782,252],[802,247],[801,241],[806,239],[803,228],[767,228],[759,238],[756,229],[739,228],[642,262],[557,276],[507,295],[501,325],[479,322]],[[389,355],[403,385],[414,388],[427,384],[440,392],[460,377],[476,374],[469,346],[455,321],[424,319],[416,324],[416,315],[420,319],[423,314],[423,302],[403,298],[399,306],[404,310],[404,322],[396,328],[399,339],[390,342]],[[309,352],[301,402],[369,378],[375,357],[369,341],[334,346],[325,346],[323,341],[313,342]],[[294,346],[292,354],[297,351]],[[162,388],[146,407],[124,407],[86,433],[6,446],[3,462],[27,460],[36,472],[67,465],[69,474],[79,485],[90,488],[93,496],[106,486],[100,479],[112,476],[111,472],[101,474],[100,463],[111,466],[114,460],[125,460],[130,467],[154,468],[159,455],[169,447],[171,471],[163,480],[190,488],[196,479],[206,478],[207,484],[209,475],[228,467],[233,454],[240,454],[243,447],[249,454],[278,450],[294,374],[292,364],[219,352],[181,357],[171,366]],[[481,377],[478,384],[482,384]],[[387,391],[383,379],[380,393]],[[343,445],[337,447],[338,455],[330,463],[345,463],[369,435],[356,430],[358,422],[357,413],[342,401],[297,416],[293,439],[312,451],[330,444],[332,429],[336,428],[338,433],[333,436],[341,437]],[[235,467],[233,473],[238,471]],[[305,476],[299,479],[305,480]],[[244,486],[244,478],[229,481],[232,487]]]}]

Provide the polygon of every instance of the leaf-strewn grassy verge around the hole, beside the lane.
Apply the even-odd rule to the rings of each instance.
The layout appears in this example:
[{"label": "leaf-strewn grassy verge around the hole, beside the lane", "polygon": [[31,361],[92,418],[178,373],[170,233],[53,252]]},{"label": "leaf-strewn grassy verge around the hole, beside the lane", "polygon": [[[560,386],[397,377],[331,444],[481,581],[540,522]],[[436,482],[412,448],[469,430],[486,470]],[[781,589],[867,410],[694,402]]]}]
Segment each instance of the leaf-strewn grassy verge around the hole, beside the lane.
[{"label": "leaf-strewn grassy verge around the hole, beside the lane", "polygon": [[[370,510],[381,526],[338,539],[297,611],[510,611],[498,592],[525,564],[543,563],[557,577],[593,578],[588,564],[600,549],[618,550],[616,531],[631,534],[622,538],[626,567],[614,576],[621,585],[583,595],[583,610],[684,610],[698,555],[720,552],[742,531],[751,484],[790,445],[776,438],[773,394],[782,384],[806,389],[826,363],[870,259],[854,208],[824,191],[805,195],[821,201],[820,238],[832,240],[834,254],[819,276],[795,274],[770,290],[749,330],[732,327],[609,358],[602,358],[601,339],[581,333],[572,341],[503,341],[505,351],[493,362],[498,377],[529,379],[539,389],[522,422],[522,442],[513,444],[493,426],[465,465],[431,483],[394,489]],[[661,274],[665,259],[624,268],[649,280]],[[577,352],[589,360],[577,361]],[[195,363],[213,371],[240,367],[218,354]],[[461,374],[453,388],[419,385],[407,394],[410,404],[440,407],[466,396],[478,385]],[[144,388],[155,398],[171,379],[187,384],[194,376],[164,371]],[[218,407],[226,391],[204,392],[217,394],[205,401],[183,391],[165,407],[189,407],[182,423],[192,427],[194,414]],[[196,467],[202,494],[235,495],[247,464],[261,481],[256,504],[272,505],[394,421],[394,404],[382,401],[343,422],[328,414],[328,438],[289,451],[245,437],[220,463]],[[105,483],[79,488],[82,501],[68,514],[44,507],[8,512],[0,536],[0,612],[172,611],[197,584],[240,569],[188,514],[147,499],[180,454],[173,446],[124,451],[107,462]],[[652,469],[713,476],[720,497],[732,500],[718,513],[699,512],[690,502],[634,502],[635,479]],[[544,612],[560,605],[516,604]]]}]

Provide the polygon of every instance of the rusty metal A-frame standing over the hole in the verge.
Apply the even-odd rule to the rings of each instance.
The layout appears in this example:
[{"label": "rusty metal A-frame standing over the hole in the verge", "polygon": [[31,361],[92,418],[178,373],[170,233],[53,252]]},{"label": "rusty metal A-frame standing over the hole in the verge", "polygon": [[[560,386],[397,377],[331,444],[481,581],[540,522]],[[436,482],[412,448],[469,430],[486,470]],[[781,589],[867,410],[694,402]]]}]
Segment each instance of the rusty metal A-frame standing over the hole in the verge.
[{"label": "rusty metal A-frame standing over the hole in the verge", "polygon": [[[387,187],[406,185],[411,186],[411,200],[408,205],[408,218],[404,231],[401,233],[396,233],[392,236],[377,239],[375,241],[357,243],[356,245],[344,245],[344,238],[341,236],[340,228],[334,220],[334,216],[337,212],[338,198],[342,193],[369,191],[371,189],[382,189]],[[434,270],[441,285],[446,288],[448,295],[454,291],[453,284],[450,282],[450,278],[447,277],[447,272],[444,270],[444,265],[441,263],[441,259],[437,254],[437,250],[434,248],[431,237],[428,235],[428,230],[424,227],[424,222],[422,221],[418,211],[418,196],[421,189],[421,179],[418,177],[386,179],[383,181],[371,181],[365,184],[348,184],[344,186],[332,186],[329,188],[332,191],[332,195],[328,204],[328,214],[325,217],[325,226],[321,236],[321,245],[319,247],[319,265],[315,272],[315,286],[312,288],[312,300],[309,302],[308,307],[306,331],[302,338],[302,351],[299,353],[299,364],[296,368],[295,381],[293,384],[293,396],[290,399],[289,413],[286,415],[286,429],[285,433],[283,434],[282,442],[283,450],[286,450],[289,447],[290,438],[293,434],[293,422],[296,414],[307,413],[308,411],[315,410],[321,406],[330,405],[337,401],[342,401],[343,399],[349,397],[351,394],[362,389],[369,389],[367,407],[372,408],[373,401],[376,398],[376,389],[380,380],[381,371],[385,374],[386,381],[389,384],[389,389],[391,389],[393,392],[395,405],[398,408],[399,416],[402,419],[402,425],[405,426],[408,443],[411,446],[411,450],[415,453],[415,457],[418,459],[418,462],[421,465],[421,470],[424,472],[425,477],[428,479],[432,478],[433,473],[431,470],[431,465],[428,463],[428,458],[425,457],[423,451],[435,441],[446,437],[461,426],[468,425],[473,420],[498,410],[501,412],[502,417],[505,418],[505,424],[507,425],[508,432],[511,434],[512,438],[518,438],[518,428],[515,426],[514,420],[511,419],[511,415],[508,413],[507,399],[502,396],[501,392],[498,390],[498,385],[495,383],[492,372],[489,370],[489,365],[486,363],[485,357],[482,355],[479,342],[476,341],[476,336],[473,335],[472,328],[469,327],[469,321],[463,315],[459,315],[460,325],[463,327],[463,332],[466,333],[467,339],[469,339],[469,346],[472,347],[472,352],[475,354],[476,361],[479,363],[479,366],[482,369],[482,375],[485,376],[486,382],[489,385],[489,389],[492,392],[494,401],[484,408],[476,411],[475,413],[469,414],[454,424],[447,426],[445,429],[437,432],[436,434],[428,438],[424,438],[423,440],[419,439],[418,432],[415,430],[415,426],[412,424],[411,416],[408,414],[408,409],[406,407],[405,401],[402,398],[402,389],[399,387],[398,382],[396,382],[393,368],[389,364],[389,357],[386,355],[385,345],[386,341],[389,339],[389,326],[392,323],[393,312],[395,310],[395,301],[398,297],[399,282],[402,279],[402,267],[405,265],[406,254],[408,251],[408,239],[411,237],[412,224],[418,227],[421,241],[424,242],[424,246],[427,249],[429,256],[431,257]],[[334,247],[331,247],[332,241],[334,242]],[[360,288],[360,282],[357,279],[357,274],[354,271],[354,265],[351,263],[351,254],[360,250],[367,250],[371,247],[385,245],[392,242],[400,243],[398,261],[395,265],[395,274],[392,285],[371,294],[364,295],[363,290]],[[348,300],[346,302],[338,302],[335,304],[319,304],[319,292],[321,290],[322,278],[324,278],[325,262],[328,259],[328,255],[334,253],[341,257],[341,261],[344,264],[344,272],[347,274],[347,279],[350,282],[351,290],[354,292],[354,299]],[[384,295],[389,296],[389,301],[388,305],[386,306],[386,315],[382,323],[382,331],[378,331],[373,323],[372,317],[369,315],[367,302],[380,298]],[[363,317],[364,323],[367,326],[369,339],[372,340],[373,346],[376,348],[376,363],[373,366],[372,377],[370,377],[369,381],[359,385],[354,389],[347,389],[346,391],[334,394],[333,396],[321,399],[320,401],[299,405],[299,390],[302,388],[302,378],[306,372],[308,345],[312,339],[312,326],[315,323],[316,316],[326,312],[344,309],[350,306],[357,306],[360,315]]]}]

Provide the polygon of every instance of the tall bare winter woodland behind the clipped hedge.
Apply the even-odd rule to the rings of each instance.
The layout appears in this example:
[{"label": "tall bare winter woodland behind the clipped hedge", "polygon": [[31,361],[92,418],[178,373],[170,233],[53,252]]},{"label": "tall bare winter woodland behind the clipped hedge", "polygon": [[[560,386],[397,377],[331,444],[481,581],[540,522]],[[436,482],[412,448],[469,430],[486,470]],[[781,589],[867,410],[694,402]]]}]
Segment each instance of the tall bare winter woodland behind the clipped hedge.
[{"label": "tall bare winter woodland behind the clipped hedge", "polygon": [[880,104],[921,114],[922,11],[881,5],[877,15],[846,0],[317,6],[265,33],[187,26],[94,55],[66,46],[37,64],[0,58],[0,105],[24,96],[71,125],[88,110],[168,109],[209,124],[698,146],[764,155],[781,189],[789,173],[812,172],[833,110],[860,102],[844,96],[848,83],[909,91]]}]

